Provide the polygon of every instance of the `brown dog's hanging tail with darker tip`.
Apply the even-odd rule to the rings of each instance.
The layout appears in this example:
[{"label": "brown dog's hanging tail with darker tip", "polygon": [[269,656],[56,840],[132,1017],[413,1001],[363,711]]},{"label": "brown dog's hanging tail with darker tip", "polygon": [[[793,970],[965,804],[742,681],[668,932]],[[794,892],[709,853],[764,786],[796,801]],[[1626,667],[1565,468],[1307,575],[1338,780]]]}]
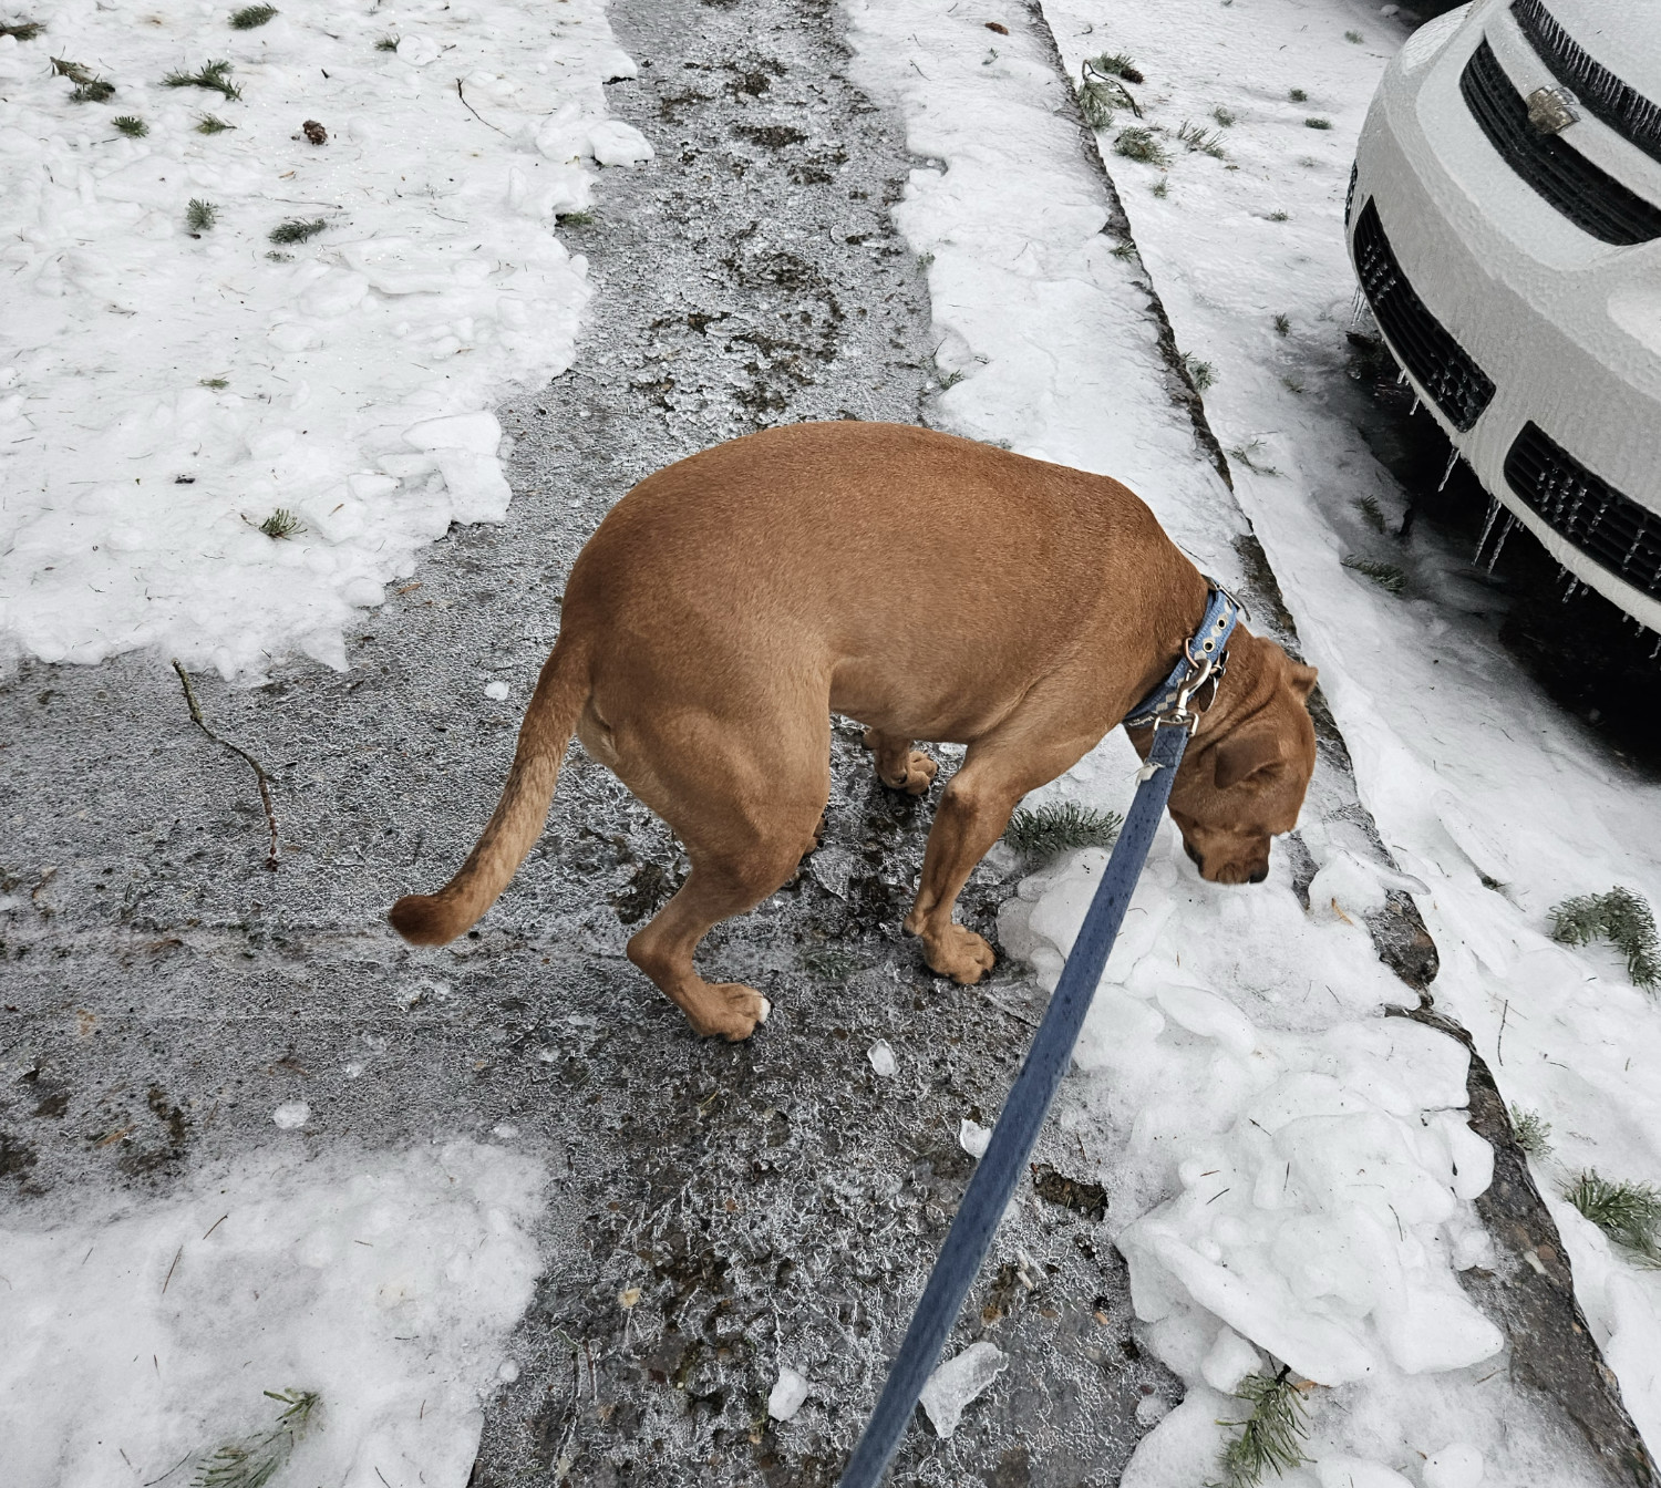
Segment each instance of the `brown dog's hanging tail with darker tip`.
[{"label": "brown dog's hanging tail with darker tip", "polygon": [[560,762],[588,701],[588,648],[561,636],[537,679],[520,724],[513,769],[478,845],[437,893],[409,893],[392,905],[387,918],[405,940],[415,945],[455,940],[497,902],[518,872],[548,820]]}]

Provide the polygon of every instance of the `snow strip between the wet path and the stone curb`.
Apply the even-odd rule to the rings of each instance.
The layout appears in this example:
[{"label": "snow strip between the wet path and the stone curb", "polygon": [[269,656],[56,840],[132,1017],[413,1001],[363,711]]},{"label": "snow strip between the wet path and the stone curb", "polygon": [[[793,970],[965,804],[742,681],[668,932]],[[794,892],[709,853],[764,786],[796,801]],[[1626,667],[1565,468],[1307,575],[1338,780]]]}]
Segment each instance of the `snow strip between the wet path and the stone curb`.
[{"label": "snow strip between the wet path and the stone curb", "polygon": [[[948,427],[1124,480],[1203,568],[1239,580],[1246,523],[1173,399],[1134,251],[1101,231],[1105,189],[1041,25],[928,3],[852,13],[859,76],[900,98],[914,153],[940,163],[897,216],[932,256]],[[1133,764],[1110,737],[1055,792],[1121,809]],[[1246,1408],[1227,1392],[1282,1362],[1314,1382],[1312,1461],[1289,1485],[1593,1481],[1455,1279],[1492,1259],[1472,1207],[1492,1153],[1465,1124],[1463,1050],[1382,1016],[1412,993],[1360,920],[1402,880],[1350,850],[1325,771],[1302,834],[1307,908],[1289,850],[1267,885],[1218,888],[1168,830],[1058,1111],[1108,1184],[1146,1337],[1189,1385],[1124,1481],[1214,1478],[1237,1435],[1218,1422]],[[1003,912],[1005,947],[1046,981],[1101,860],[1076,854]]]}]

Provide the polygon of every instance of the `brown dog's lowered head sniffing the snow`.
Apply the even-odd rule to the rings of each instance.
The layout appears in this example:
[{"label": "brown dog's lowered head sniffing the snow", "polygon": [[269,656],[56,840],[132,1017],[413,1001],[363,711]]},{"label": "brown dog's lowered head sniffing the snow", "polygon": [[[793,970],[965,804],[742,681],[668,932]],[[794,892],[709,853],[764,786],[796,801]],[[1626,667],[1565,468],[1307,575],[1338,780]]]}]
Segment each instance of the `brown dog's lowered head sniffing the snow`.
[{"label": "brown dog's lowered head sniffing the snow", "polygon": [[1171,819],[1201,879],[1261,884],[1269,839],[1297,825],[1316,767],[1316,669],[1259,636],[1236,633],[1231,649],[1246,664],[1231,666],[1222,688],[1244,684],[1244,696],[1218,709],[1214,734],[1201,727],[1176,772]]}]

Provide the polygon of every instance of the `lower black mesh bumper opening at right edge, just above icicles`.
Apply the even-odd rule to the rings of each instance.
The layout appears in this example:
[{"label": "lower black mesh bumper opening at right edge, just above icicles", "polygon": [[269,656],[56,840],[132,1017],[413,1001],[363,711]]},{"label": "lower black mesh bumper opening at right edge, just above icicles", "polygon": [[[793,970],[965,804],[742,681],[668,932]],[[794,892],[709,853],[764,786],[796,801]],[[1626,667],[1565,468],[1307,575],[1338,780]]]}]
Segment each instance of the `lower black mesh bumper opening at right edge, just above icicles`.
[{"label": "lower black mesh bumper opening at right edge, just above icicles", "polygon": [[1661,516],[1593,475],[1538,423],[1505,455],[1505,480],[1561,538],[1634,590],[1661,596]]}]

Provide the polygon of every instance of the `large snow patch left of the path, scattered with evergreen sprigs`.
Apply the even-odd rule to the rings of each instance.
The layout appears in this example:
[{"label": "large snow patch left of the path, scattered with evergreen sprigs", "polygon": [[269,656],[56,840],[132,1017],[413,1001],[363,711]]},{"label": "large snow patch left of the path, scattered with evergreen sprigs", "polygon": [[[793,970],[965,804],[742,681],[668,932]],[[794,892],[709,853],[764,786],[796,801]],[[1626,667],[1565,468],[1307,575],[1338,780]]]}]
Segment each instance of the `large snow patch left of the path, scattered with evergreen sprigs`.
[{"label": "large snow patch left of the path, scattered with evergreen sprigs", "polygon": [[[635,66],[600,0],[40,20],[0,37],[0,659],[341,668],[354,606],[507,512],[488,410],[571,362],[555,221],[649,158],[605,118]],[[239,96],[163,83],[221,60]]]}]

